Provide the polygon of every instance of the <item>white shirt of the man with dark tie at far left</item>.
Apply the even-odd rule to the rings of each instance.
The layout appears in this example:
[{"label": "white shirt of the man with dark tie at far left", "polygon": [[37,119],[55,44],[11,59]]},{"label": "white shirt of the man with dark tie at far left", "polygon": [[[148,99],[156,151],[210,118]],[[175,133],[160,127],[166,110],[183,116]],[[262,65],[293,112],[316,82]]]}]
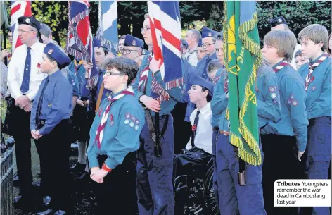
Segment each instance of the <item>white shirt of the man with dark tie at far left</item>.
[{"label": "white shirt of the man with dark tie at far left", "polygon": [[[36,42],[30,47],[30,82],[29,90],[25,93],[30,101],[36,97],[41,81],[44,80],[44,78],[47,76],[46,73],[41,73],[39,70],[37,70],[37,64],[43,61],[42,56],[45,46],[45,44]],[[8,89],[13,99],[17,99],[23,94],[20,91],[20,87],[22,85],[26,57],[27,45],[23,44],[15,49],[13,56],[11,57],[11,62],[8,66]]]}]

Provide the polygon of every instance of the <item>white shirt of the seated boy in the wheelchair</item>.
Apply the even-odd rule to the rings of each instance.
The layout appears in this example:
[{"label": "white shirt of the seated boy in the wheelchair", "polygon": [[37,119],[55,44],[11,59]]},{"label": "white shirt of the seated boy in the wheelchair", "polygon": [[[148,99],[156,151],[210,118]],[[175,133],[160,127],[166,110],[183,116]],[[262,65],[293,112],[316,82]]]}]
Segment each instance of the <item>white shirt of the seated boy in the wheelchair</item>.
[{"label": "white shirt of the seated boy in the wheelchair", "polygon": [[[195,121],[195,117],[198,109],[195,109],[190,116],[191,125]],[[205,152],[212,154],[212,133],[213,128],[211,125],[211,104],[208,102],[202,109],[200,109],[200,114],[198,115],[198,123],[196,128],[196,136],[195,136],[195,147],[203,149]],[[186,145],[186,149],[191,149],[191,137],[189,142]]]}]

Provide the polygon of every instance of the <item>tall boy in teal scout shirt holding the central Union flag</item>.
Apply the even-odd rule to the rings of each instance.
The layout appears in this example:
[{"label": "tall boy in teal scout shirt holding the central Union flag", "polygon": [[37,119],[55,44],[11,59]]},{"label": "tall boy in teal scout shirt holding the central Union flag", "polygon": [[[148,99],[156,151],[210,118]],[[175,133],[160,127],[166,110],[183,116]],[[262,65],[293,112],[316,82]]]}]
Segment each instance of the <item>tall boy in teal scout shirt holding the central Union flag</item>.
[{"label": "tall boy in teal scout shirt holding the central Union flag", "polygon": [[[149,17],[143,23],[142,34],[147,45],[152,45]],[[155,82],[165,87],[158,61],[153,56],[146,56],[141,63],[136,81],[133,84],[136,99],[146,107],[146,123],[141,132],[141,147],[137,151],[136,191],[138,196],[139,214],[174,214],[174,193],[172,185],[174,129],[170,112],[177,102],[181,102],[182,94],[179,87],[167,90],[170,99],[159,104],[153,99],[157,90],[152,87]],[[159,113],[159,117],[155,117]],[[159,123],[161,156],[156,156],[155,123]],[[158,131],[158,129],[157,129]],[[158,154],[157,154],[158,155]]]}]

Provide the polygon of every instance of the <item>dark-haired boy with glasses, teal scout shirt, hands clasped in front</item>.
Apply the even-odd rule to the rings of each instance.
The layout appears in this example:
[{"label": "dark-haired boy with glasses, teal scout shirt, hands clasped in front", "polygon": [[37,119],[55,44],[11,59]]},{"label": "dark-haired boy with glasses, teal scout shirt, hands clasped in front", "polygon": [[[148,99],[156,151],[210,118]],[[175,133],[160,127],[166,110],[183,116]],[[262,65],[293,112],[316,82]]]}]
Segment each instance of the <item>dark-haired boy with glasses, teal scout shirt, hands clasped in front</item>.
[{"label": "dark-haired boy with glasses, teal scout shirt, hands clasped in front", "polygon": [[[113,92],[99,107],[90,130],[87,150],[91,179],[96,183],[96,214],[134,214],[135,166],[144,111],[127,87],[138,65],[125,57],[108,59],[103,76],[105,89]],[[134,204],[135,205],[135,204]]]}]

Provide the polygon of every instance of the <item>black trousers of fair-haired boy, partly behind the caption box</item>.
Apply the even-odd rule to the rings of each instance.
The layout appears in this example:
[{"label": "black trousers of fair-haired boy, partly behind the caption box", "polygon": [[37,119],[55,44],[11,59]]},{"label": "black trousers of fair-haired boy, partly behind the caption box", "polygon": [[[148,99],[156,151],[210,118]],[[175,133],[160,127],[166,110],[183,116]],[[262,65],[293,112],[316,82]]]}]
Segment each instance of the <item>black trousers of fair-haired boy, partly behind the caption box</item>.
[{"label": "black trousers of fair-haired boy, partly behind the caption box", "polygon": [[277,179],[300,179],[304,166],[298,161],[295,136],[261,135],[263,161],[263,195],[267,215],[298,214],[297,207],[274,207],[274,181]]}]

